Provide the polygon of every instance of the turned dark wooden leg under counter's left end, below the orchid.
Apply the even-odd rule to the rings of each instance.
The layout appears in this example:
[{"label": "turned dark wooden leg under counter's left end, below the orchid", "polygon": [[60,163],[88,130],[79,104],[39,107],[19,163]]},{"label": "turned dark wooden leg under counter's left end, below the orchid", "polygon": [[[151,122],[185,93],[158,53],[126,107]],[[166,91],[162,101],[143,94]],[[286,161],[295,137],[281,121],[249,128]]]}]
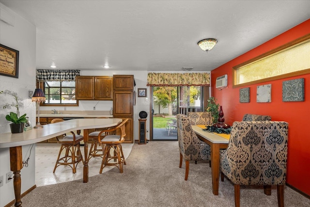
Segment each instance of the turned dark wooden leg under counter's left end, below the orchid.
[{"label": "turned dark wooden leg under counter's left end, below the orchid", "polygon": [[10,147],[10,165],[11,171],[14,173],[13,185],[15,194],[15,207],[21,207],[21,178],[20,170],[23,168],[22,147]]}]

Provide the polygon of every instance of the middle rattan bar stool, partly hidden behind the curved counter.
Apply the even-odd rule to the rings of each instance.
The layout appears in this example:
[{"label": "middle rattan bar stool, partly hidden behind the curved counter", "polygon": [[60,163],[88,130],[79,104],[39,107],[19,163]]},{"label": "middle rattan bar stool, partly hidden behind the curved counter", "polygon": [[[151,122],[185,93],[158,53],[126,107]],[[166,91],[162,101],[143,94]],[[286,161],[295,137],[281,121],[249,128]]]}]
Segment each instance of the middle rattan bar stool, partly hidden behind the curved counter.
[{"label": "middle rattan bar stool, partly hidden behind the curved counter", "polygon": [[[97,117],[97,119],[105,119],[109,117]],[[89,155],[88,155],[88,160],[90,160],[93,157],[101,157],[103,158],[103,149],[100,144],[98,144],[98,134],[100,131],[105,130],[106,128],[95,128],[93,132],[88,134],[88,140],[92,143],[90,150],[89,150]],[[101,133],[101,139],[103,139],[106,136],[106,133]],[[100,146],[100,147],[98,147]]]}]

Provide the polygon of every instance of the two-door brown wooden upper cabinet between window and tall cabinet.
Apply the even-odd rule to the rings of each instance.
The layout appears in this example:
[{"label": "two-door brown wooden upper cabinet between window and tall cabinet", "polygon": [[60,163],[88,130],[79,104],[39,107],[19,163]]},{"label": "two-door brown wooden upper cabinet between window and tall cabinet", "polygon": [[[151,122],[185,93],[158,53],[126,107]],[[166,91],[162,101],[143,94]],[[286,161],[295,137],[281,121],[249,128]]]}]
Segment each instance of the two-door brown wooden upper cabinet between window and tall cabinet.
[{"label": "two-door brown wooden upper cabinet between window and tall cabinet", "polygon": [[112,100],[113,77],[110,76],[77,76],[77,100]]}]

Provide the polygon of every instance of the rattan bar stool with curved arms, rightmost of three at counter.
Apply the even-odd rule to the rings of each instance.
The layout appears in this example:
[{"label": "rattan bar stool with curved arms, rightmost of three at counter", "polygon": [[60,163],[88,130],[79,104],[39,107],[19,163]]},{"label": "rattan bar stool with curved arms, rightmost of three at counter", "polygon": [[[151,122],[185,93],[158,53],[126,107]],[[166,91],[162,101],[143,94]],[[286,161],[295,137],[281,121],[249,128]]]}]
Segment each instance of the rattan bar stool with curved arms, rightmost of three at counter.
[{"label": "rattan bar stool with curved arms, rightmost of three at counter", "polygon": [[[98,134],[98,143],[104,148],[103,159],[100,167],[100,174],[106,166],[116,166],[120,170],[120,173],[123,173],[123,164],[126,164],[124,153],[122,149],[122,143],[124,143],[124,137],[126,136],[125,132],[125,123],[128,119],[125,119],[117,127],[111,129],[102,130]],[[120,130],[121,134],[115,134]],[[101,134],[105,133],[106,136],[101,139]],[[112,154],[111,155],[111,150]]]}]

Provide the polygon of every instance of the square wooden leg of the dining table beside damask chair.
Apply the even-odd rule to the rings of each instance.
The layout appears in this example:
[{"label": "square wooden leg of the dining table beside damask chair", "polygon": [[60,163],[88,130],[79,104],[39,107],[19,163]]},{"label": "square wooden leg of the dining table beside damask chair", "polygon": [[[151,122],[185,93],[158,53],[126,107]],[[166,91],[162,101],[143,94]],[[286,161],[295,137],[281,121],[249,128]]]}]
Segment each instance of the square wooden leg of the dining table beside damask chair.
[{"label": "square wooden leg of the dining table beside damask chair", "polygon": [[219,182],[219,144],[211,143],[211,172],[212,172],[212,191],[218,195]]}]

